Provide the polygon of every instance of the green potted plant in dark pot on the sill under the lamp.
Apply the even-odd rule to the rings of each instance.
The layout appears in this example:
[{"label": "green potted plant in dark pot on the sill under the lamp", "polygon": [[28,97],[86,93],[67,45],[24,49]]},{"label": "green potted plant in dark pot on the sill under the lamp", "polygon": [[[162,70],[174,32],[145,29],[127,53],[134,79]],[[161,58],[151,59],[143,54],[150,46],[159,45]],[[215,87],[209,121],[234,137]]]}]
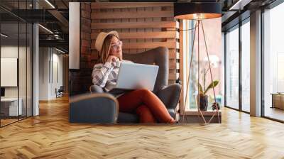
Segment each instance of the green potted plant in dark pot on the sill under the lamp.
[{"label": "green potted plant in dark pot on the sill under the lamp", "polygon": [[207,70],[204,69],[203,87],[202,87],[202,84],[200,84],[200,83],[198,84],[200,99],[198,100],[198,96],[197,96],[197,105],[200,106],[200,110],[201,111],[207,111],[207,107],[208,107],[208,95],[207,95],[207,92],[210,89],[212,89],[213,87],[216,87],[218,85],[218,83],[219,83],[219,80],[214,80],[213,82],[211,82],[208,85],[208,87],[205,87],[206,74],[207,74],[208,70],[209,69],[207,69]]}]

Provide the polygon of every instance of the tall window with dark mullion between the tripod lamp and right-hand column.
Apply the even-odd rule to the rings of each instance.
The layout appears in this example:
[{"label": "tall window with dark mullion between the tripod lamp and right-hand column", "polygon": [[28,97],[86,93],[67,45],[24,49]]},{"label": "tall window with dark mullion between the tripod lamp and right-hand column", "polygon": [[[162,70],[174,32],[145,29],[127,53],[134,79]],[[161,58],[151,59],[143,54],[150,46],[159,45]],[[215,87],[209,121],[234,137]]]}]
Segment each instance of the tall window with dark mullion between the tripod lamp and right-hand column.
[{"label": "tall window with dark mullion between the tripod lamp and right-hand column", "polygon": [[[250,18],[226,31],[226,106],[250,111]],[[241,49],[241,50],[240,50]]]}]

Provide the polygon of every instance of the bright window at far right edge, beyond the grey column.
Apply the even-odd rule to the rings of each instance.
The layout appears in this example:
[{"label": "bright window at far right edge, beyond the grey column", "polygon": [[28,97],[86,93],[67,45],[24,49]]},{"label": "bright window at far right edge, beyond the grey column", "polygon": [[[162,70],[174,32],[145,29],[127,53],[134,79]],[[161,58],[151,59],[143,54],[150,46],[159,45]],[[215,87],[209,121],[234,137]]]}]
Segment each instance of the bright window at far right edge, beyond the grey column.
[{"label": "bright window at far right edge, beyond the grey column", "polygon": [[[280,107],[284,104],[284,3],[263,13],[263,97],[264,116],[284,121],[283,109],[273,104],[273,95],[279,96]],[[275,101],[274,101],[275,102]]]}]

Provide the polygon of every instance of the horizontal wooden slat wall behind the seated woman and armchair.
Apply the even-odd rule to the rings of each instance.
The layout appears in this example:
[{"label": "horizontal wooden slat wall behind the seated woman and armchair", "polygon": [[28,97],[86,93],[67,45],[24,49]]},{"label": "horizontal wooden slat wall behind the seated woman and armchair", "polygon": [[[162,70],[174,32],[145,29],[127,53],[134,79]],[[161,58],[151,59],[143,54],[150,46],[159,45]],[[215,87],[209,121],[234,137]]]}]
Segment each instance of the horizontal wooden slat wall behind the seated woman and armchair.
[{"label": "horizontal wooden slat wall behind the seated woman and armchair", "polygon": [[158,46],[170,50],[169,83],[175,83],[179,73],[179,27],[173,18],[173,3],[163,2],[92,2],[91,50],[99,32],[118,31],[124,42],[124,53],[141,53]]}]

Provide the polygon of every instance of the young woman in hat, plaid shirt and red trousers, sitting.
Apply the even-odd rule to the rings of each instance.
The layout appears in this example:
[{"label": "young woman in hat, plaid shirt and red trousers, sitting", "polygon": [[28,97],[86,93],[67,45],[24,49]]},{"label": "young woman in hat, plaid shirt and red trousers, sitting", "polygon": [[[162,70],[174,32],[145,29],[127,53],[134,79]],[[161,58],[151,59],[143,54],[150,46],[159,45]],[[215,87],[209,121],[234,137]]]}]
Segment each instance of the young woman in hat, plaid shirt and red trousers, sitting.
[{"label": "young woman in hat, plaid shirt and red trousers, sitting", "polygon": [[[131,62],[122,59],[122,42],[119,33],[99,33],[95,48],[99,51],[100,63],[94,65],[92,82],[110,91],[115,87],[116,77],[121,62]],[[141,123],[175,123],[163,102],[148,89],[137,89],[118,97],[119,111],[136,113]]]}]

